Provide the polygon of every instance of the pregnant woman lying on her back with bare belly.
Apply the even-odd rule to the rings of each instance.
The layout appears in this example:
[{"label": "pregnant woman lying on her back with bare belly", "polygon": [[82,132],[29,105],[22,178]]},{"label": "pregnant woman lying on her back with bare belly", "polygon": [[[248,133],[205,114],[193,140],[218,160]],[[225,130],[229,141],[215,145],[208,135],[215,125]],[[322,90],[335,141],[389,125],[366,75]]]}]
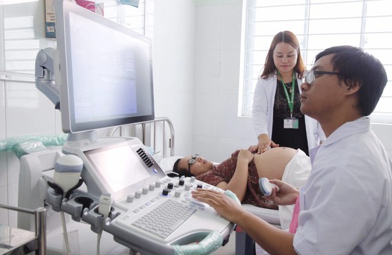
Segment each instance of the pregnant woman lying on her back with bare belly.
[{"label": "pregnant woman lying on her back with bare belly", "polygon": [[278,206],[263,196],[259,178],[279,179],[299,188],[305,184],[310,169],[310,159],[303,151],[287,147],[270,148],[261,154],[237,150],[217,165],[193,155],[177,159],[173,166],[180,177],[195,176],[199,181],[231,190],[241,203],[269,209],[278,209]]}]

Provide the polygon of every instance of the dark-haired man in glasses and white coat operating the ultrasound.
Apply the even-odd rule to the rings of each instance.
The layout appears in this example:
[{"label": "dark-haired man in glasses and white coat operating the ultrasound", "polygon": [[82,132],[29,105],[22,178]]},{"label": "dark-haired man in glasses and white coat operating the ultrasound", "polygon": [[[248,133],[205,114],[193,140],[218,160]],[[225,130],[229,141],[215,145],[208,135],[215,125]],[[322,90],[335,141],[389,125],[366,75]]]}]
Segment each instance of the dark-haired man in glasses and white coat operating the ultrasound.
[{"label": "dark-haired man in glasses and white coat operating the ultrasound", "polygon": [[294,204],[290,230],[279,230],[219,192],[193,197],[241,225],[271,254],[392,254],[391,159],[370,129],[387,78],[362,49],[325,49],[301,85],[301,111],[320,122],[325,142],[310,151],[312,171],[301,190],[272,180],[272,199]]}]

